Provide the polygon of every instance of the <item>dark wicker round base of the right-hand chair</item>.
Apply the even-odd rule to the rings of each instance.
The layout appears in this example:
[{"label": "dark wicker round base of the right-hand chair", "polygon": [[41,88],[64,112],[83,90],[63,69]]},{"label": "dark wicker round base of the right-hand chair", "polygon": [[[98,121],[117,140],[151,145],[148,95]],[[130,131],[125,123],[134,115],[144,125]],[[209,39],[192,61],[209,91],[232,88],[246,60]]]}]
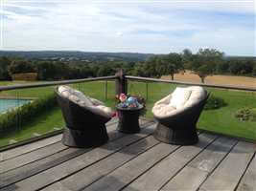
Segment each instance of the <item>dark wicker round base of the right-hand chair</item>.
[{"label": "dark wicker round base of the right-hand chair", "polygon": [[153,137],[159,141],[176,145],[192,145],[198,143],[196,127],[172,128],[158,123]]}]

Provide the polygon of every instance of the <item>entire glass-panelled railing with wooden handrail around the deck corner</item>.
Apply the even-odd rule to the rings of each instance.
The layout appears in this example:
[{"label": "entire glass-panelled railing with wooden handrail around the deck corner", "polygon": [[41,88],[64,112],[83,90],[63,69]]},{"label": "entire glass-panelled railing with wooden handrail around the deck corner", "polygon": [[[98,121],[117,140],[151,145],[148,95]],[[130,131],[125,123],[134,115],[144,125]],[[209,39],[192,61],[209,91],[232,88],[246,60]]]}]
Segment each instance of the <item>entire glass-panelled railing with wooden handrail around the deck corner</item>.
[{"label": "entire glass-panelled railing with wooden handrail around the deck corner", "polygon": [[[256,140],[256,121],[241,121],[235,117],[237,111],[244,107],[256,108],[255,88],[130,76],[120,71],[105,77],[1,86],[0,99],[13,101],[14,109],[12,112],[1,112],[0,147],[7,148],[9,145],[26,143],[28,139],[44,138],[61,132],[64,122],[54,98],[54,88],[58,85],[73,86],[113,108],[116,104],[115,95],[120,93],[144,96],[147,100],[146,117],[151,118],[153,103],[170,94],[176,86],[203,86],[211,92],[211,96],[221,99],[225,105],[204,110],[198,121],[198,129]],[[29,99],[31,103],[21,107],[23,99]],[[3,110],[1,107],[3,104],[0,102],[0,111]]]}]

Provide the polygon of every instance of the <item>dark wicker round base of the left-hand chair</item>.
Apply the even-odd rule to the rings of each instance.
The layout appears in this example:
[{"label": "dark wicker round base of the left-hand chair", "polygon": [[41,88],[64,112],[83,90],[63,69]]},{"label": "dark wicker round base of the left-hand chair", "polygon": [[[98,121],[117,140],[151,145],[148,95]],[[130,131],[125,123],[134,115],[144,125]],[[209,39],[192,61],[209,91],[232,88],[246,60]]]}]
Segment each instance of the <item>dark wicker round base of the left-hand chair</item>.
[{"label": "dark wicker round base of the left-hand chair", "polygon": [[93,130],[94,131],[92,131],[91,128],[86,130],[85,128],[85,130],[81,131],[65,127],[62,143],[66,146],[81,148],[89,148],[105,144],[108,140],[105,125],[93,128]]}]

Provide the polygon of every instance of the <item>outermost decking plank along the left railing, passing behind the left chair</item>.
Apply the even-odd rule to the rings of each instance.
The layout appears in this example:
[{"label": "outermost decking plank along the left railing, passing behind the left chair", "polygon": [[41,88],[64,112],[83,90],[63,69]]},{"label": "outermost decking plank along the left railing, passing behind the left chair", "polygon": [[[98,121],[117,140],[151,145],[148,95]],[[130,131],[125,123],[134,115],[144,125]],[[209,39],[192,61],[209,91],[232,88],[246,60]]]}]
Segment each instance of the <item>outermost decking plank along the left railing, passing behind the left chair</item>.
[{"label": "outermost decking plank along the left railing, passing behind the left chair", "polygon": [[[111,119],[110,121],[108,121],[106,123],[106,125],[116,123],[117,121],[118,121],[118,118],[115,117],[115,118]],[[0,152],[0,164],[1,164],[1,161],[7,160],[7,159],[12,159],[17,156],[32,152],[36,149],[45,147],[47,145],[54,144],[54,143],[60,141],[61,138],[62,138],[62,134],[54,136],[54,137],[50,137],[50,138],[43,138],[41,140],[29,143],[29,144],[21,145],[21,146],[9,149],[7,151]]]}]

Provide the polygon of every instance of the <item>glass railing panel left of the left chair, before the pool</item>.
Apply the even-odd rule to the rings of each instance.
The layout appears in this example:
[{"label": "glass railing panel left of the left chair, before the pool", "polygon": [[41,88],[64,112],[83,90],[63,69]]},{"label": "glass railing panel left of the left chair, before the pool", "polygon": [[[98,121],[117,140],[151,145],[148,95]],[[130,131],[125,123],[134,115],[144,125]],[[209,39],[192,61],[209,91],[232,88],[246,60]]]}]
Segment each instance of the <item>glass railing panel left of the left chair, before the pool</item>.
[{"label": "glass railing panel left of the left chair, before the pool", "polygon": [[[63,127],[54,87],[5,91],[3,95],[12,98],[15,107],[0,115],[0,146],[39,137]],[[11,107],[11,102],[1,105],[9,104]]]}]

